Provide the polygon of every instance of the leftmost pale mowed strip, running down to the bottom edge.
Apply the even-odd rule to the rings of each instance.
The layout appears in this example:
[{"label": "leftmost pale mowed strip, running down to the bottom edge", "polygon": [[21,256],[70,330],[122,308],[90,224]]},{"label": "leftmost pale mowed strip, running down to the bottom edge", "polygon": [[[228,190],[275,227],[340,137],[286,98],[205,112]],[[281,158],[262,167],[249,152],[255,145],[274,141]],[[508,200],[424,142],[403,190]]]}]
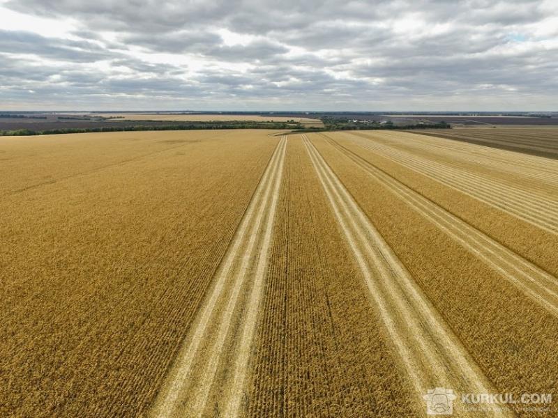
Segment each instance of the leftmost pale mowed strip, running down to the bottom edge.
[{"label": "leftmost pale mowed strip, running down to the bottom edge", "polygon": [[[257,322],[287,137],[282,137],[216,273],[176,363],[160,391],[153,417],[197,417],[209,399],[236,416],[243,396]],[[215,385],[219,380],[219,385]],[[218,391],[218,393],[217,393]],[[223,400],[223,392],[226,400]],[[212,396],[213,395],[213,396]]]}]

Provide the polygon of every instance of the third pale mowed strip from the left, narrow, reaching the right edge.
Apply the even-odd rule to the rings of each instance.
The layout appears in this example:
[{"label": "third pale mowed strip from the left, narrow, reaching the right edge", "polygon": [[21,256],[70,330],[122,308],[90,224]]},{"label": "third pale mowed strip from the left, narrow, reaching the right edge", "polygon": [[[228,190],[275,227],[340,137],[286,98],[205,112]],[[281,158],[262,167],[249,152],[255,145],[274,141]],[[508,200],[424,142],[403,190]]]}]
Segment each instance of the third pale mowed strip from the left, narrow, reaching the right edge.
[{"label": "third pale mowed strip from the left, narrow, reaching the right edge", "polygon": [[558,316],[558,279],[556,277],[538,268],[485,233],[478,231],[474,226],[467,224],[430,199],[426,199],[407,185],[395,180],[360,155],[338,144],[331,137],[327,135],[324,137],[329,144],[349,157],[374,180],[384,185],[453,240],[475,254],[483,263],[502,274],[511,284],[518,286],[522,292],[548,309],[553,315]]}]

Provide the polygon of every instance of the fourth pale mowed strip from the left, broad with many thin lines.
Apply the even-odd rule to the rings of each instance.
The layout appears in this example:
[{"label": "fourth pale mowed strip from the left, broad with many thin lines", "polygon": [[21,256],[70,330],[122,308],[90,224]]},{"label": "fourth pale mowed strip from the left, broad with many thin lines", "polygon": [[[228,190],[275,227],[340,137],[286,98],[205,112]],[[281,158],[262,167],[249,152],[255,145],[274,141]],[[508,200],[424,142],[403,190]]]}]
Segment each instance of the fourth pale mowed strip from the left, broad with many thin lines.
[{"label": "fourth pale mowed strip from the left, broad with many thin lines", "polygon": [[446,186],[464,192],[490,206],[499,208],[545,231],[558,234],[558,201],[534,191],[527,192],[484,176],[455,169],[447,164],[418,157],[412,153],[385,146],[372,138],[348,134],[359,146],[372,150],[393,162],[402,164]]}]

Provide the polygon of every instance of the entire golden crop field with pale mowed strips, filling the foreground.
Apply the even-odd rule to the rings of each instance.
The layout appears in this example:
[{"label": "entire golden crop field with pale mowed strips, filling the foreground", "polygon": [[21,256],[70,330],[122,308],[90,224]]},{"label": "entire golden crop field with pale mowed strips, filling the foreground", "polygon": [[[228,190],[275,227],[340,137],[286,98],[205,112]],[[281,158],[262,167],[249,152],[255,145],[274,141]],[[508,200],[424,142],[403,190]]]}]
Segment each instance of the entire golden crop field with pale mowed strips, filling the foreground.
[{"label": "entire golden crop field with pale mowed strips, filling the foreground", "polygon": [[0,417],[557,417],[548,132],[0,137]]}]

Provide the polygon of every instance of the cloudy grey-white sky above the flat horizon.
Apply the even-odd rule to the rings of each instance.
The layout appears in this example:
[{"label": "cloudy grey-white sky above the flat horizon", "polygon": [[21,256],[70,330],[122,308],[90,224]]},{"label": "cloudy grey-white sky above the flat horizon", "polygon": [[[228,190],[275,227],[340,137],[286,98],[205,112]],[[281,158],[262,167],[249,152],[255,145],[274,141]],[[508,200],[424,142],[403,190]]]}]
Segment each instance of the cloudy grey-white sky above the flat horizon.
[{"label": "cloudy grey-white sky above the flat horizon", "polygon": [[0,0],[0,109],[556,111],[556,1]]}]

